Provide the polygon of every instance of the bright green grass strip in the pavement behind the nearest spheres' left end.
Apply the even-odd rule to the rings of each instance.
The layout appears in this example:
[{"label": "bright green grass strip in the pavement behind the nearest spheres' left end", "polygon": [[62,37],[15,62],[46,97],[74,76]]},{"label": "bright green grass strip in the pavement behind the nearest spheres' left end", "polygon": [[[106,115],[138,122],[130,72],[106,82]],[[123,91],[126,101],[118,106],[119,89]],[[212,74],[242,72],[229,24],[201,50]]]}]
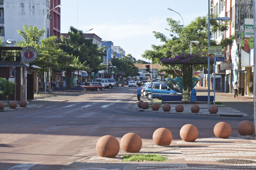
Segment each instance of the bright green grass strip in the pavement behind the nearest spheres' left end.
[{"label": "bright green grass strip in the pavement behind the nearest spheres' left end", "polygon": [[168,161],[166,156],[160,154],[133,154],[123,155],[123,161]]}]

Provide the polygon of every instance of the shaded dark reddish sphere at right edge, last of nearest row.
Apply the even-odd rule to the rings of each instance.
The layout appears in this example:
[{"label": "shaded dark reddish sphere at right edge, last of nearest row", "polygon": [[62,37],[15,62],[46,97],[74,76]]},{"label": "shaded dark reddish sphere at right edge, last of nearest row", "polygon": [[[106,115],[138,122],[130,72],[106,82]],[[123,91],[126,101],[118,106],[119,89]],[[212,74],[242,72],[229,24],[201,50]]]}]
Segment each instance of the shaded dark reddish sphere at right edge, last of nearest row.
[{"label": "shaded dark reddish sphere at right edge, last of nearest row", "polygon": [[248,120],[241,121],[237,127],[240,135],[253,135],[255,131],[254,129],[254,124]]}]

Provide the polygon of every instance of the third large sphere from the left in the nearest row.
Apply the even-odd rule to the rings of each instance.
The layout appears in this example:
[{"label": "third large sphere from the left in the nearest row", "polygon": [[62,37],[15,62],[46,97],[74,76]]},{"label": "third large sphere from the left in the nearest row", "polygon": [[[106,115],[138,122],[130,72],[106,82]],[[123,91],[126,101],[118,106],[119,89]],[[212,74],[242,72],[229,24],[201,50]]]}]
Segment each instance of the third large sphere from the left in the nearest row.
[{"label": "third large sphere from the left in the nearest row", "polygon": [[170,145],[172,133],[164,127],[158,128],[153,133],[153,141],[156,145]]}]

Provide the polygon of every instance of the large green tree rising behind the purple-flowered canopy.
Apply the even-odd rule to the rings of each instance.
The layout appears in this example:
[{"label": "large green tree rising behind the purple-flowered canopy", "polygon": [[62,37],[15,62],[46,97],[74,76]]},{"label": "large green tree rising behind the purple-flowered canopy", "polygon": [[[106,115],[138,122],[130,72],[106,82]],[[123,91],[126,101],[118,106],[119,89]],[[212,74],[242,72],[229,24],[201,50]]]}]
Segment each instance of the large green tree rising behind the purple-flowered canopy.
[{"label": "large green tree rising behind the purple-flowered canopy", "polygon": [[[198,56],[208,56],[208,17],[198,17],[187,26],[180,25],[178,21],[172,18],[167,18],[168,25],[170,25],[170,32],[178,35],[176,38],[167,39],[166,36],[160,32],[153,31],[154,36],[160,41],[164,42],[163,45],[152,45],[153,50],[146,50],[142,57],[152,60],[152,62],[162,65],[161,60],[164,58],[173,58],[176,55],[190,53],[190,41],[199,41],[198,45],[192,44],[192,54]],[[217,30],[225,31],[227,24],[221,24],[220,21],[210,20],[210,37],[212,33]],[[223,42],[223,45],[227,45],[230,41]],[[225,43],[225,44],[224,44]],[[222,45],[214,40],[210,40],[211,46]],[[163,66],[163,65],[162,65]],[[194,65],[195,70],[200,70],[205,65]],[[173,64],[164,66],[166,76],[174,76],[174,74],[180,74],[182,65]]]}]

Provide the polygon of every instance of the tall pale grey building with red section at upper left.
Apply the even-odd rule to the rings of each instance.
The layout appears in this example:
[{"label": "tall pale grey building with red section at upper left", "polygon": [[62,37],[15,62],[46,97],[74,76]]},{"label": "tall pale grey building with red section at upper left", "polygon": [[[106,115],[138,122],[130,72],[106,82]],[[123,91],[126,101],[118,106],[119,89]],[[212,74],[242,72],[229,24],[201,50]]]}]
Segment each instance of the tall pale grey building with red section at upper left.
[{"label": "tall pale grey building with red section at upper left", "polygon": [[24,25],[45,29],[46,38],[60,37],[60,8],[55,8],[58,5],[60,0],[0,0],[0,38],[3,42],[23,41],[17,30],[24,30]]}]

